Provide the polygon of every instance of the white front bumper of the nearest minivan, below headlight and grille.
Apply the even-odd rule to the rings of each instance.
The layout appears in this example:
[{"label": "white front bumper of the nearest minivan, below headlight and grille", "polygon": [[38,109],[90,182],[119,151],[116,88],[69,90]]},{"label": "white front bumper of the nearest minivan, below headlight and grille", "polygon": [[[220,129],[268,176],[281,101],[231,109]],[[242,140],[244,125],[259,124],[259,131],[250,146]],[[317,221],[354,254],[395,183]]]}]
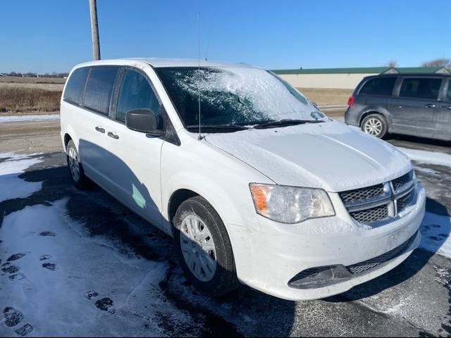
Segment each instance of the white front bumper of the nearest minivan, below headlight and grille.
[{"label": "white front bumper of the nearest minivan, below headlight and grille", "polygon": [[[426,192],[420,184],[417,192],[416,204],[409,207],[404,217],[373,229],[359,227],[349,214],[341,210],[333,218],[308,220],[297,225],[275,223],[259,217],[260,230],[249,233],[251,238],[239,245],[245,249],[235,251],[238,278],[266,294],[299,301],[341,294],[383,275],[402,263],[421,242],[418,230],[424,218]],[[244,239],[242,235],[240,238]],[[326,287],[313,285],[302,289],[290,286],[290,281],[304,270],[350,267],[384,255],[402,244],[406,246],[394,258],[365,273],[347,276]]]}]

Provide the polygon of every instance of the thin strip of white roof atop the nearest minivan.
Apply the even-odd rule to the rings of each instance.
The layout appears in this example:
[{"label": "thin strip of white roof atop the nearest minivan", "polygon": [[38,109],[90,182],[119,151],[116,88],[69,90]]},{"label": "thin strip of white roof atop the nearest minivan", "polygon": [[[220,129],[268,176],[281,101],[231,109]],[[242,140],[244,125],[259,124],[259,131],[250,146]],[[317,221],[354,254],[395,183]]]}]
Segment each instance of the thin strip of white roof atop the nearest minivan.
[{"label": "thin strip of white roof atop the nearest minivan", "polygon": [[[148,63],[155,68],[163,67],[197,67],[199,66],[199,60],[195,58],[116,58],[111,60],[99,60],[90,61],[87,63],[81,63],[77,65],[78,67],[89,66],[89,65],[127,65],[130,61],[139,61]],[[214,62],[214,61],[200,61],[201,67],[218,67],[218,68],[253,68],[252,65],[247,65],[246,63],[224,63],[224,62]]]}]

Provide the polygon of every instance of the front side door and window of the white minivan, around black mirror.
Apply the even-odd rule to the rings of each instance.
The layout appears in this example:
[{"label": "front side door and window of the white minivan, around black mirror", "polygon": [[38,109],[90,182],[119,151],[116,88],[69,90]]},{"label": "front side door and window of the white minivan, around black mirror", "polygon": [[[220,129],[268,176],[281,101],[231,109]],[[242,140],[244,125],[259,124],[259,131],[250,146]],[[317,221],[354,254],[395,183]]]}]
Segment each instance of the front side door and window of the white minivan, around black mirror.
[{"label": "front side door and window of the white minivan, around black mirror", "polygon": [[[161,224],[160,156],[163,139],[135,132],[125,125],[128,111],[150,108],[161,113],[161,103],[147,75],[126,68],[118,87],[112,119],[106,126],[110,153],[107,175],[112,193],[155,225]],[[161,118],[161,128],[163,128]]]}]

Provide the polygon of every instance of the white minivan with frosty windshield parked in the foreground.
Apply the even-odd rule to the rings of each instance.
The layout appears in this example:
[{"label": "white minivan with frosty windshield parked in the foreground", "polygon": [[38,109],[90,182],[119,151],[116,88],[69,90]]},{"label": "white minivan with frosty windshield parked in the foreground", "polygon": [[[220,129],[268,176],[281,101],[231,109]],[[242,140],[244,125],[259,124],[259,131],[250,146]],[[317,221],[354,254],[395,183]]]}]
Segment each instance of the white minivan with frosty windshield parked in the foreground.
[{"label": "white minivan with frosty windshield parked in the foreground", "polygon": [[346,292],[417,246],[426,194],[390,144],[243,64],[77,65],[61,99],[73,182],[175,239],[188,280],[290,300]]}]

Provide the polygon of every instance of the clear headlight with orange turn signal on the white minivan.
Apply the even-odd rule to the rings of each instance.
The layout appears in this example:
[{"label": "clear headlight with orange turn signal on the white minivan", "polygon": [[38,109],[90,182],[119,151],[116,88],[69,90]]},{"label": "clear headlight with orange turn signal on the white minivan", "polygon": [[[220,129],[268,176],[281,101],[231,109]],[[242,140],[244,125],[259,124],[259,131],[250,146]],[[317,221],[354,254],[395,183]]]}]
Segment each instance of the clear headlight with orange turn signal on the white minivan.
[{"label": "clear headlight with orange turn signal on the white minivan", "polygon": [[249,184],[255,210],[281,223],[299,223],[309,218],[335,215],[323,189],[285,187],[274,184]]}]

